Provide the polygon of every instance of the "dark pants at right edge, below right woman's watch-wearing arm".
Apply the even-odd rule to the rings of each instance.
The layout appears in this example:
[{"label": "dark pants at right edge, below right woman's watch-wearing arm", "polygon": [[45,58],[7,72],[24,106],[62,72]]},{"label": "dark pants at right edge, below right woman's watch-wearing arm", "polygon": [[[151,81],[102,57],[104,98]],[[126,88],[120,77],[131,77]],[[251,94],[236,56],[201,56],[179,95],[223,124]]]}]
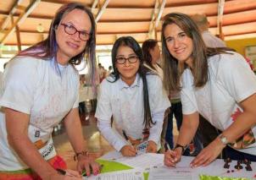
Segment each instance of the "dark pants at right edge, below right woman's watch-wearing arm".
[{"label": "dark pants at right edge, below right woman's watch-wearing arm", "polygon": [[234,150],[229,146],[226,146],[224,151],[224,158],[231,158],[231,160],[244,160],[247,159],[249,161],[256,161],[256,155],[250,155],[247,153],[240,152],[238,150]]}]

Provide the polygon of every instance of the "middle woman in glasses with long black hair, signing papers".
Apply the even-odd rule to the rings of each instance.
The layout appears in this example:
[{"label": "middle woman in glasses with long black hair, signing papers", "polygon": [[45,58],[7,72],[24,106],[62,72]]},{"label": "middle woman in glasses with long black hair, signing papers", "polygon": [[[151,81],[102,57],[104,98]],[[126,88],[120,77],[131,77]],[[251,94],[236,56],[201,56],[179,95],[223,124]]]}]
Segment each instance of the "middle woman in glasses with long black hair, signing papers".
[{"label": "middle woman in glasses with long black hair, signing papers", "polygon": [[[142,49],[131,36],[114,42],[112,63],[114,72],[100,85],[95,114],[97,127],[122,155],[136,155],[133,145],[146,139],[147,152],[155,153],[164,111],[170,106],[162,81],[142,65]],[[111,117],[114,128],[111,128]]]}]

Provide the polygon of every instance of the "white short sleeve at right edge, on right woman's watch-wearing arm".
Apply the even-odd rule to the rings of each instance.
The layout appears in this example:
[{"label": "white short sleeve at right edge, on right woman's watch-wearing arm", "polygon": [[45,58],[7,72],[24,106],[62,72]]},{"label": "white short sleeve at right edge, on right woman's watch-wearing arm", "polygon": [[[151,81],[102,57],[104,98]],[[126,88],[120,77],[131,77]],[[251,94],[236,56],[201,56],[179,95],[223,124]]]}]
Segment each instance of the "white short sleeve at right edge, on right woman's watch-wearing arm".
[{"label": "white short sleeve at right edge, on right woman's watch-wearing arm", "polygon": [[232,53],[221,55],[218,79],[225,90],[240,102],[256,93],[256,76],[240,54]]}]

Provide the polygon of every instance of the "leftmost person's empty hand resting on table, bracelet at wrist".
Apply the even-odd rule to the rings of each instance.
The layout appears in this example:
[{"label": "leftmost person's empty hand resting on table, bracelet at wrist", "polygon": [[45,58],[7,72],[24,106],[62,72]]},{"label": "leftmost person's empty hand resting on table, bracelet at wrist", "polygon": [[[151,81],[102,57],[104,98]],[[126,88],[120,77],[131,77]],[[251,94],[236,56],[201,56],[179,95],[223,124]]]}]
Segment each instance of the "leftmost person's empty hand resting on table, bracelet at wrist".
[{"label": "leftmost person's empty hand resting on table, bracelet at wrist", "polygon": [[78,157],[78,162],[76,165],[77,171],[80,174],[85,170],[86,176],[90,176],[91,174],[97,175],[100,173],[100,165],[92,159],[89,155],[80,155]]}]

